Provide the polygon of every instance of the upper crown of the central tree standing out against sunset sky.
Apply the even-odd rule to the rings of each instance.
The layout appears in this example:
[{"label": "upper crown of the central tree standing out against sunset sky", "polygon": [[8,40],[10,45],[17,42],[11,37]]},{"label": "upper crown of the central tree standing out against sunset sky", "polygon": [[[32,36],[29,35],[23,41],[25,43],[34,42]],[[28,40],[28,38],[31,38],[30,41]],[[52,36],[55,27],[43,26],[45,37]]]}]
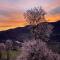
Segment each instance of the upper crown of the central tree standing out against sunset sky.
[{"label": "upper crown of the central tree standing out against sunset sky", "polygon": [[46,21],[45,14],[46,12],[41,7],[34,7],[31,10],[27,10],[24,16],[30,25],[37,25]]}]

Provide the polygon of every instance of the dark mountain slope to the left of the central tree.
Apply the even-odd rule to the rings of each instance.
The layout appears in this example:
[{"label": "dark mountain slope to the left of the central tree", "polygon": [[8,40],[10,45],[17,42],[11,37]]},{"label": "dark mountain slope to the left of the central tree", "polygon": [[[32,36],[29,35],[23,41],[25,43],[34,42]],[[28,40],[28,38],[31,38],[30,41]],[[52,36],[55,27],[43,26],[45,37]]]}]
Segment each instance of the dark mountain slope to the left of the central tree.
[{"label": "dark mountain slope to the left of the central tree", "polygon": [[30,35],[30,26],[0,31],[0,42],[4,42],[7,39],[23,41]]}]

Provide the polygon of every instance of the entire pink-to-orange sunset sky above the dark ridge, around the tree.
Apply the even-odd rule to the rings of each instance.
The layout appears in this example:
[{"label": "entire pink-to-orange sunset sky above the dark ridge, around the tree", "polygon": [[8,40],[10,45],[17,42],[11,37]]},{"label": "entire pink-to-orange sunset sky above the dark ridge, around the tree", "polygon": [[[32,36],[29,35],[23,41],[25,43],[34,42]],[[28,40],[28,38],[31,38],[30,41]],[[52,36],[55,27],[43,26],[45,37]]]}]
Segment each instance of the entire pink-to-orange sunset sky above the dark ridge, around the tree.
[{"label": "entire pink-to-orange sunset sky above the dark ridge, around the tree", "polygon": [[23,12],[35,6],[45,9],[48,22],[60,20],[60,0],[0,0],[0,31],[26,26]]}]

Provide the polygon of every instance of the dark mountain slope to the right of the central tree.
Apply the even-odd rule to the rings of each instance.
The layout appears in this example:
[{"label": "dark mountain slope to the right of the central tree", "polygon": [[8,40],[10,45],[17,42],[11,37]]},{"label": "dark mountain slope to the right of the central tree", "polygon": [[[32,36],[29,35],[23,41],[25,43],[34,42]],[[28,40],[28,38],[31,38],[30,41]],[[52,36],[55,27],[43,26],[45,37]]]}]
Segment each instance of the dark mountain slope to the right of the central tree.
[{"label": "dark mountain slope to the right of the central tree", "polygon": [[60,42],[60,21],[51,23],[54,26],[50,41]]}]

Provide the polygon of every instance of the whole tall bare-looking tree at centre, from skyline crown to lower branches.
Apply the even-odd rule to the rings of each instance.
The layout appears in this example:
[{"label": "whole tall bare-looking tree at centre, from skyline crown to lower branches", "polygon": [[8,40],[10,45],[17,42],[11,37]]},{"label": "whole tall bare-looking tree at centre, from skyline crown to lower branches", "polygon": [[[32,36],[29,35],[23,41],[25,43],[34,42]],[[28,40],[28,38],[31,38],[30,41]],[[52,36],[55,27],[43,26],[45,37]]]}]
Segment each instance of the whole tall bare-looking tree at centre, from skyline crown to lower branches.
[{"label": "whole tall bare-looking tree at centre, from skyline crown to lower branches", "polygon": [[35,40],[42,39],[47,40],[52,32],[52,25],[48,25],[45,19],[46,12],[41,7],[35,7],[31,10],[27,10],[25,18],[30,25],[33,25],[31,29]]}]

